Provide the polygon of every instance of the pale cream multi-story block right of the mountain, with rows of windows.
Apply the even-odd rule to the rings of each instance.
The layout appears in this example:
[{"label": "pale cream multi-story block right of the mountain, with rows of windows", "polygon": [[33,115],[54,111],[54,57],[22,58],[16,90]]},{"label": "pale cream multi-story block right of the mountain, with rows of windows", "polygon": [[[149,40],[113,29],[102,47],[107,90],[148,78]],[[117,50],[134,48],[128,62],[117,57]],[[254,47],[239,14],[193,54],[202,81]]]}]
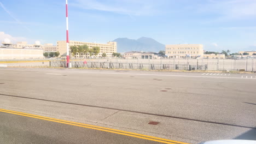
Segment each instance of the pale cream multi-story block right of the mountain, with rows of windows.
[{"label": "pale cream multi-story block right of the mountain, with rows of windows", "polygon": [[165,45],[165,55],[168,58],[197,58],[203,56],[201,44]]}]

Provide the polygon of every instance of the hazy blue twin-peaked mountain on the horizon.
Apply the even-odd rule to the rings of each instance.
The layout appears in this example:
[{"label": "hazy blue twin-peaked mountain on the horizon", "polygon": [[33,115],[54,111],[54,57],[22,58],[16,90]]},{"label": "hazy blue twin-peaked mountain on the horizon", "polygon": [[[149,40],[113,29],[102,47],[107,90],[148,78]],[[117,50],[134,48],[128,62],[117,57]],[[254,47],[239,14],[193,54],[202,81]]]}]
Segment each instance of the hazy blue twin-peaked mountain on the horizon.
[{"label": "hazy blue twin-peaked mountain on the horizon", "polygon": [[128,51],[146,51],[146,52],[159,52],[165,50],[165,45],[159,43],[152,38],[141,37],[137,40],[128,38],[117,38],[113,41],[117,42],[118,52]]}]

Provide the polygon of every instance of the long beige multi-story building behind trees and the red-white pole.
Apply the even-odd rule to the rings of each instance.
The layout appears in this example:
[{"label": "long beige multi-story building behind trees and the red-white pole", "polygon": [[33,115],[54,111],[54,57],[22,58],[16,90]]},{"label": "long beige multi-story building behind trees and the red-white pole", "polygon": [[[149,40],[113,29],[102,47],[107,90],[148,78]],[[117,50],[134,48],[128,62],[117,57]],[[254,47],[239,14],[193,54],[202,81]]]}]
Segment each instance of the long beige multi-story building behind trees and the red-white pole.
[{"label": "long beige multi-story building behind trees and the red-white pole", "polygon": [[[88,43],[82,41],[69,40],[69,46],[79,46],[79,45],[88,45],[89,49],[92,49],[94,46],[100,47],[100,53],[97,56],[102,56],[102,53],[106,53],[107,57],[112,57],[113,52],[117,52],[117,42],[109,41],[107,44],[98,44],[98,43]],[[66,41],[57,41],[57,49],[60,52],[60,56],[67,55],[67,44]],[[89,53],[80,57],[89,57]]]}]

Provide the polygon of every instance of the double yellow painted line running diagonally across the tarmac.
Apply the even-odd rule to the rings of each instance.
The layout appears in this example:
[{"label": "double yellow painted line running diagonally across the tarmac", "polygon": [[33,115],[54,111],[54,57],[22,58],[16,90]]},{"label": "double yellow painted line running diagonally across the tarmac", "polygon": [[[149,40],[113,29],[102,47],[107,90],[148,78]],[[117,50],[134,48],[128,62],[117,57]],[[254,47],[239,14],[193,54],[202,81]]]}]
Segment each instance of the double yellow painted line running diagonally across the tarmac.
[{"label": "double yellow painted line running diagonally across the tarmac", "polygon": [[[150,141],[156,141],[156,142],[162,142],[162,143],[168,143],[168,144],[189,144],[189,143],[184,143],[184,142],[179,142],[179,141],[173,141],[173,140],[167,140],[167,139],[162,139],[159,137],[154,137],[154,136],[148,136],[148,135],[142,135],[142,134],[137,134],[137,133],[131,133],[128,131],[123,131],[123,130],[117,130],[117,129],[110,129],[110,128],[104,128],[104,127],[98,127],[96,125],[90,125],[90,124],[83,124],[83,123],[77,123],[77,122],[71,122],[71,121],[65,121],[62,119],[56,119],[56,118],[50,118],[50,117],[44,117],[44,116],[38,116],[38,115],[32,115],[30,113],[24,113],[24,112],[18,112],[18,111],[11,111],[11,110],[5,110],[5,109],[0,109],[1,112],[5,113],[11,113],[14,115],[20,115],[20,116],[26,116],[26,117],[32,117],[32,118],[37,118],[37,119],[43,119],[45,121],[51,121],[51,122],[57,122],[57,123],[63,123],[63,124],[68,124],[68,125],[74,125],[77,127],[83,127],[83,128],[89,128],[89,129],[95,129],[95,130],[100,130],[100,131],[106,131],[109,133],[115,133],[115,134],[120,134],[120,135],[126,135],[126,136],[131,136],[131,137],[137,137],[139,139],[145,139],[145,140],[150,140]],[[174,143],[173,143],[174,142]]]}]

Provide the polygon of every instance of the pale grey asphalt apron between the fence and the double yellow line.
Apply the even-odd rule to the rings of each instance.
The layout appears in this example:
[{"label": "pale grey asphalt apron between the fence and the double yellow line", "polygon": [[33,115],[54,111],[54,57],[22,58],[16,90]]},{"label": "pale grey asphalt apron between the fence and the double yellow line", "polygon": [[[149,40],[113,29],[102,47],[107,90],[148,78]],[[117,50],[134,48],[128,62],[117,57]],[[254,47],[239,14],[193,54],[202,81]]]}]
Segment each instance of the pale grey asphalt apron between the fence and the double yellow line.
[{"label": "pale grey asphalt apron between the fence and the double yellow line", "polygon": [[[255,76],[0,68],[0,109],[187,143],[218,139],[255,140]],[[0,115],[0,118],[10,116]],[[15,125],[10,130],[19,127],[22,122],[36,121],[21,119],[20,116],[14,118],[11,122]],[[159,124],[148,124],[152,121]],[[45,123],[44,127],[48,127],[48,122],[43,120],[36,123]],[[4,125],[8,129],[8,121],[2,127]],[[67,127],[65,130],[68,131],[70,126],[63,127]],[[54,129],[55,124],[49,124],[48,128]],[[31,127],[24,131],[24,135],[35,129]],[[76,129],[72,131],[75,134]],[[83,133],[90,133],[86,131]],[[118,134],[113,137],[108,136],[112,134],[105,134],[107,132],[102,134],[102,131],[96,130],[95,133],[104,135],[102,139],[115,140],[118,137],[118,142],[126,139]],[[135,143],[148,141],[136,138]]]}]

